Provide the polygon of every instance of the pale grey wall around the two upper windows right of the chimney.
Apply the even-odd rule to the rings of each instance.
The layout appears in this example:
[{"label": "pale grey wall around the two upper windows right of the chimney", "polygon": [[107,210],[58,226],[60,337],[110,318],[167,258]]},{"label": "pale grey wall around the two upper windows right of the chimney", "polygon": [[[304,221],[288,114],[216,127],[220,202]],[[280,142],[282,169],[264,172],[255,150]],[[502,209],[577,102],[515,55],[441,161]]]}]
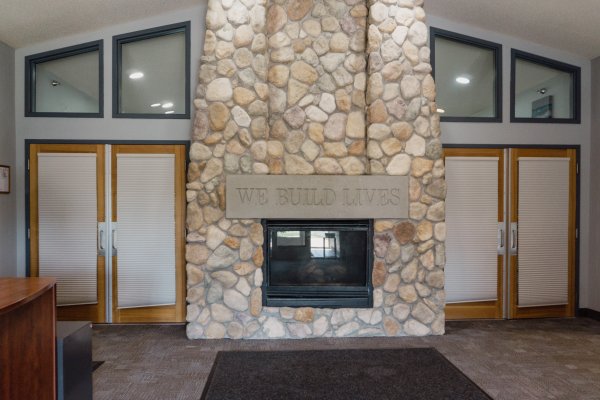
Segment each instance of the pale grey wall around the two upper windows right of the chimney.
[{"label": "pale grey wall around the two upper windows right of the chimney", "polygon": [[[425,10],[427,11],[427,10]],[[474,36],[502,44],[502,123],[442,123],[444,144],[536,144],[581,145],[580,166],[580,258],[579,307],[590,307],[596,296],[600,277],[593,274],[591,259],[598,258],[597,240],[595,256],[590,257],[590,120],[591,120],[591,62],[584,57],[557,49],[527,42],[515,37],[455,23],[444,18],[427,16],[428,24],[437,28]],[[517,124],[510,123],[510,51],[511,48],[555,59],[581,67],[581,124]],[[596,164],[597,165],[597,164]],[[593,169],[592,169],[593,170]],[[597,177],[595,179],[598,179]],[[595,197],[598,202],[598,195]],[[598,221],[596,219],[596,221]],[[594,229],[597,229],[594,227]],[[596,269],[597,269],[597,262]]]}]

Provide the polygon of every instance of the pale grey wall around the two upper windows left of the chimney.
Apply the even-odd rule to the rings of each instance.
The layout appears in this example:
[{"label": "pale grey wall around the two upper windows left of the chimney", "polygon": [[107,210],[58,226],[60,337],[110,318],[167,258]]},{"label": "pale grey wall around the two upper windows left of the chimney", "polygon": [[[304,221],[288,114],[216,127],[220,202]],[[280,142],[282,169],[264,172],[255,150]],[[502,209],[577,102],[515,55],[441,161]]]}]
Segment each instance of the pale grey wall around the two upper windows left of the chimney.
[{"label": "pale grey wall around the two upper windows left of the chimney", "polygon": [[[182,21],[191,21],[190,101],[196,96],[198,67],[204,45],[206,1],[193,8],[165,13],[157,17],[110,26],[101,31],[63,37],[17,49],[15,52],[16,119],[16,198],[17,201],[17,274],[26,272],[25,226],[25,140],[190,140],[192,115],[186,119],[124,119],[112,118],[112,36],[141,29],[154,28]],[[24,58],[31,54],[72,46],[93,40],[104,40],[104,118],[38,118],[24,117]],[[14,246],[13,246],[14,247]]]}]

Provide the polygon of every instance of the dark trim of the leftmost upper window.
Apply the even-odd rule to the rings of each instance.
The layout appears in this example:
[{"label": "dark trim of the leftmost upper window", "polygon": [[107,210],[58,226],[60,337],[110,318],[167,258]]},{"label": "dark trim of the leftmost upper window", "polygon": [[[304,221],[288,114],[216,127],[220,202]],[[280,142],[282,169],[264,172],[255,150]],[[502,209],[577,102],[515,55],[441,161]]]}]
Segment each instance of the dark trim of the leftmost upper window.
[{"label": "dark trim of the leftmost upper window", "polygon": [[[98,51],[98,112],[97,113],[59,113],[33,111],[35,106],[35,65],[61,58]],[[104,40],[95,40],[63,47],[25,57],[25,116],[60,118],[103,118],[104,117]]]}]

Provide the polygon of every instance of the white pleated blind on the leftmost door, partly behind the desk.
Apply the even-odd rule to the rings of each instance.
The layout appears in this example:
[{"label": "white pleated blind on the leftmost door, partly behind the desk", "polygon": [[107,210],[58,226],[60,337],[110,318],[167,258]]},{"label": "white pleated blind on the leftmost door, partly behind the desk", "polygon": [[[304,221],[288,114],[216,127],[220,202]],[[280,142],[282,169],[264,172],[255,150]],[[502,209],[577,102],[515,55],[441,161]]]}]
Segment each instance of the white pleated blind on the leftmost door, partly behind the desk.
[{"label": "white pleated blind on the leftmost door, partly behind the desk", "polygon": [[97,303],[95,154],[38,154],[39,275],[59,306]]}]

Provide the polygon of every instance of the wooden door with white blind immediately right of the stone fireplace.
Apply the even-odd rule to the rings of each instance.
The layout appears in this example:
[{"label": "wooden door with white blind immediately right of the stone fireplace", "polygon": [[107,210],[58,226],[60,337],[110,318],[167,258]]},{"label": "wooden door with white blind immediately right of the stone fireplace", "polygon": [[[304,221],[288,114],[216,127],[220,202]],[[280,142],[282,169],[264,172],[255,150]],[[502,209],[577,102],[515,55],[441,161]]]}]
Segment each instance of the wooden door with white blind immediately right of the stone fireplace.
[{"label": "wooden door with white blind immediately right of the stone fireplace", "polygon": [[502,318],[504,150],[444,149],[446,318]]}]

